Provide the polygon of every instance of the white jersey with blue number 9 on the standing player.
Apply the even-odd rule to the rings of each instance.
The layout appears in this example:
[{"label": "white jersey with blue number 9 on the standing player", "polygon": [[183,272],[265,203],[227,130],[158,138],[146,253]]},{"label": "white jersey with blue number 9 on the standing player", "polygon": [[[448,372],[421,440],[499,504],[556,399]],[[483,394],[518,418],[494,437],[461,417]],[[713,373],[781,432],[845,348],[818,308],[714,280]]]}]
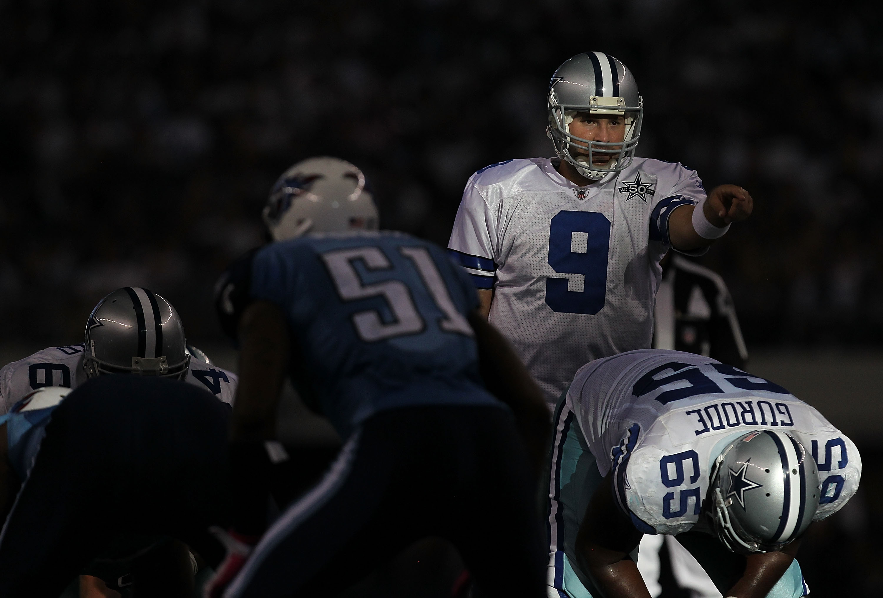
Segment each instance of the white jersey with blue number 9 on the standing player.
[{"label": "white jersey with blue number 9 on the standing player", "polygon": [[554,408],[587,361],[651,346],[668,216],[705,195],[677,163],[579,187],[548,158],[509,160],[469,179],[448,246]]}]

